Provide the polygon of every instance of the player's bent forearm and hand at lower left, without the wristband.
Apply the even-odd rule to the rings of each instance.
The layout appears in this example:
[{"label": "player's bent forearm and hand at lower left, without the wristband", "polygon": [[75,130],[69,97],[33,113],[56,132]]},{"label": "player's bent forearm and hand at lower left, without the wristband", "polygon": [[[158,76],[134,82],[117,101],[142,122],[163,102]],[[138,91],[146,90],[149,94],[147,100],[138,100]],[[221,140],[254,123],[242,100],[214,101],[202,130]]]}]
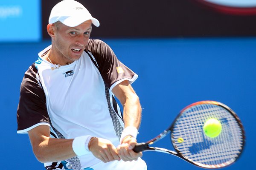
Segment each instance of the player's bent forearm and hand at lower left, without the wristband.
[{"label": "player's bent forearm and hand at lower left, without the wristband", "polygon": [[[35,127],[28,133],[33,152],[42,163],[63,161],[76,156],[72,146],[74,139],[50,138],[50,128],[47,125]],[[103,162],[120,160],[116,147],[110,141],[96,137],[90,141],[89,150],[96,158]]]}]

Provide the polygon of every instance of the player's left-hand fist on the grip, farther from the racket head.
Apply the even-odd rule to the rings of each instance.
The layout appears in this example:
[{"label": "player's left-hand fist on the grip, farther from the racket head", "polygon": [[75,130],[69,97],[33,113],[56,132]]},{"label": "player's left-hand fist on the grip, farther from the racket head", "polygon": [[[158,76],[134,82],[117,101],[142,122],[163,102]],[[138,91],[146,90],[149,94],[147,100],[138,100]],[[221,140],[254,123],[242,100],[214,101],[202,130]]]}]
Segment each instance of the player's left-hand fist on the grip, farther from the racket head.
[{"label": "player's left-hand fist on the grip, farther from the racket head", "polygon": [[103,162],[120,160],[116,147],[107,139],[92,137],[88,144],[93,155]]}]

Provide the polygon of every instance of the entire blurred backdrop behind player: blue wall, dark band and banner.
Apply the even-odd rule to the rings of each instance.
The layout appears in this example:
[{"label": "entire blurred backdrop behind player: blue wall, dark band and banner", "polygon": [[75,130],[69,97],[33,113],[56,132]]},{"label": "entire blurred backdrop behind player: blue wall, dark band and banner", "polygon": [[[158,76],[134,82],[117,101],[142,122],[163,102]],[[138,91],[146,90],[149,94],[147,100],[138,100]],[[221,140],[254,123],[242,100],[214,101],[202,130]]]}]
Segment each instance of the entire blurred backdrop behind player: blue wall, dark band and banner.
[{"label": "entire blurred backdrop behind player: blue wall, dark band and banner", "polygon": [[[20,83],[50,45],[46,26],[60,0],[0,0],[2,170],[43,170],[27,135],[17,134]],[[256,136],[256,0],[78,0],[101,26],[91,38],[111,46],[139,75],[133,87],[143,119],[138,142],[158,135],[193,102],[216,100],[241,118],[246,147],[227,170],[253,169]],[[168,137],[156,144],[172,149]],[[251,155],[250,155],[251,154]],[[145,152],[148,170],[200,169],[164,153]]]}]

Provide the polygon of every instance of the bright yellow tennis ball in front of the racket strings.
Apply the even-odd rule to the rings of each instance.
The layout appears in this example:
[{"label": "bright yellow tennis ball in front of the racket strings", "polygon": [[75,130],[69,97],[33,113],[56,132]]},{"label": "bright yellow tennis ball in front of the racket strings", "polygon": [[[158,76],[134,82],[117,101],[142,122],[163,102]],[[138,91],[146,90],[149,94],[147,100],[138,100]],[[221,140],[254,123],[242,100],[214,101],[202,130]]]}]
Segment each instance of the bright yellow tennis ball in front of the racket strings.
[{"label": "bright yellow tennis ball in front of the racket strings", "polygon": [[204,133],[210,138],[215,138],[221,133],[221,122],[215,118],[210,118],[204,123]]}]

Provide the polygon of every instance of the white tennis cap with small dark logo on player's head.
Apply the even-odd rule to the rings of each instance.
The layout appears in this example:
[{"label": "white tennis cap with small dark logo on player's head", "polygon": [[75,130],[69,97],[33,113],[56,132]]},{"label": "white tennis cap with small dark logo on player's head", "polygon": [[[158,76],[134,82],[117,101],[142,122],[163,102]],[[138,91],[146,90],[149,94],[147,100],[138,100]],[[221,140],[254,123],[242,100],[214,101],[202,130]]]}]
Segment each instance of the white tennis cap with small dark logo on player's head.
[{"label": "white tennis cap with small dark logo on player's head", "polygon": [[99,26],[99,21],[93,18],[81,3],[75,0],[62,0],[52,8],[49,24],[60,21],[66,26],[75,27],[87,20],[91,20],[94,26]]}]

